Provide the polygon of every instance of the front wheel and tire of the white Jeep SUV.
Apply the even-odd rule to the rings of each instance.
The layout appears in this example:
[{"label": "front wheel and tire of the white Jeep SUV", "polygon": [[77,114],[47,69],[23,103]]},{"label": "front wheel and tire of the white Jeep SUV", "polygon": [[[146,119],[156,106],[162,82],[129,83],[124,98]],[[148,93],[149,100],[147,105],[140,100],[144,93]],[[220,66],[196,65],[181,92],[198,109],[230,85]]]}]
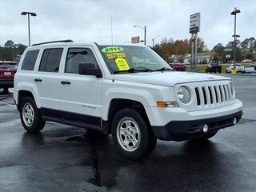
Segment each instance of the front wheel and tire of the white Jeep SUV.
[{"label": "front wheel and tire of the white Jeep SUV", "polygon": [[130,108],[119,110],[114,115],[112,138],[122,157],[139,160],[152,153],[157,138],[148,124],[141,114]]}]

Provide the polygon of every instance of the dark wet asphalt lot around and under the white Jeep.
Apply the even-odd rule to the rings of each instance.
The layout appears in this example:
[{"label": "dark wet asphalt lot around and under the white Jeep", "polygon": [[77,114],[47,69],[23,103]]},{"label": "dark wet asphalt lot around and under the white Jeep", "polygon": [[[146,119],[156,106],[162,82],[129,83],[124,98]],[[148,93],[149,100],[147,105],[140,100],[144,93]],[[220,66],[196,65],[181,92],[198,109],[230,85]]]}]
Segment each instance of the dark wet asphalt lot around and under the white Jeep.
[{"label": "dark wet asphalt lot around and under the white Jeep", "polygon": [[158,141],[140,162],[74,126],[27,134],[12,94],[0,93],[0,191],[256,191],[256,77],[232,78],[241,122],[205,142]]}]

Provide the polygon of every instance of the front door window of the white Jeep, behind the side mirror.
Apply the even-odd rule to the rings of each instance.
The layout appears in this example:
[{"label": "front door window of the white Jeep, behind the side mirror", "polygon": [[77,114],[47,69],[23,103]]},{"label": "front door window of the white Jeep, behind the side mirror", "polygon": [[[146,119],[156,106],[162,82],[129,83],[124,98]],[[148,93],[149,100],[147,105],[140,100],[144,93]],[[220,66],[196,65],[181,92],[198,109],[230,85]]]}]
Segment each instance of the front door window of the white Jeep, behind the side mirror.
[{"label": "front door window of the white Jeep, behind the side mirror", "polygon": [[94,54],[90,49],[70,48],[66,57],[65,72],[78,74],[80,63],[93,63],[96,68],[98,67]]}]

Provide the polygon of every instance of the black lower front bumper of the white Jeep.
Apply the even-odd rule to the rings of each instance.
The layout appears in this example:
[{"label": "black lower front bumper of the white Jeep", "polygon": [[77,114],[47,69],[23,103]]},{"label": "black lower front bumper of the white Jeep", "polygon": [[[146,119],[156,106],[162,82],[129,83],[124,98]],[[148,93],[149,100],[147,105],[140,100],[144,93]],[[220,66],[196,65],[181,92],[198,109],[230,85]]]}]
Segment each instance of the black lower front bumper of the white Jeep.
[{"label": "black lower front bumper of the white Jeep", "polygon": [[[166,141],[184,141],[213,133],[228,126],[233,126],[234,118],[239,122],[242,117],[242,110],[219,116],[215,118],[204,118],[190,121],[171,121],[165,126],[152,126],[157,138]],[[207,133],[202,131],[202,126],[207,124]]]}]

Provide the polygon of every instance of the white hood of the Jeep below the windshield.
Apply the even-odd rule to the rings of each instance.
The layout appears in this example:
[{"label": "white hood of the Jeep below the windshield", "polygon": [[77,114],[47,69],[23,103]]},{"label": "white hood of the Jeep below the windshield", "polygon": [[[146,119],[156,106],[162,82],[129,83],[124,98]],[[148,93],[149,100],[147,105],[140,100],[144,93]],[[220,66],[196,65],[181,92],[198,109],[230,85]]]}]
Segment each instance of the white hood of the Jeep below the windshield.
[{"label": "white hood of the Jeep below the windshield", "polygon": [[174,86],[178,83],[230,80],[230,78],[191,72],[164,71],[150,73],[114,74],[114,80],[141,82],[158,86]]}]

